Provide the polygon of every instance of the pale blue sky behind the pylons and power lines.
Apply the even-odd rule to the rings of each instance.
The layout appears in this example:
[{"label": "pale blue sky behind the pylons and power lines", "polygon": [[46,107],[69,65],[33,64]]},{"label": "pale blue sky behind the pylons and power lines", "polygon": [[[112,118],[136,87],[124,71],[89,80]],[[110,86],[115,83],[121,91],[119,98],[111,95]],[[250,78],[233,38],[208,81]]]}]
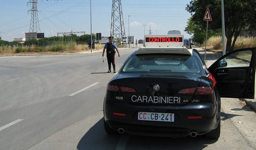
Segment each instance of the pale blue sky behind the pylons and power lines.
[{"label": "pale blue sky behind the pylons and power lines", "polygon": [[[29,32],[31,14],[29,0],[0,0],[0,34],[2,40],[13,41],[25,38]],[[128,36],[128,15],[130,36],[143,39],[149,33],[167,34],[168,30],[184,32],[190,14],[185,10],[190,0],[122,0],[125,35]],[[92,32],[110,36],[112,0],[91,0]],[[59,32],[80,32],[90,34],[90,0],[38,0],[40,30],[45,37],[57,36]],[[202,17],[203,18],[203,17]],[[52,32],[50,32],[50,30]],[[81,34],[77,34],[81,35]]]}]

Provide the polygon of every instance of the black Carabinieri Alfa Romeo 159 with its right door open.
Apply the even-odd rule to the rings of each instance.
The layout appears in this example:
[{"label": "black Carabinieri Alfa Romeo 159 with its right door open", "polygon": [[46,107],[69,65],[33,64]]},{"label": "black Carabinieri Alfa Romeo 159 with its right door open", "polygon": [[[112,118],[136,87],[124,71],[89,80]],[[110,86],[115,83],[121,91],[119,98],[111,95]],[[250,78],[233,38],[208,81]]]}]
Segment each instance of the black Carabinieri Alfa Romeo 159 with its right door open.
[{"label": "black Carabinieri Alfa Romeo 159 with its right door open", "polygon": [[256,48],[232,51],[207,68],[195,49],[141,47],[107,85],[105,131],[218,139],[221,97],[253,99],[255,66]]}]

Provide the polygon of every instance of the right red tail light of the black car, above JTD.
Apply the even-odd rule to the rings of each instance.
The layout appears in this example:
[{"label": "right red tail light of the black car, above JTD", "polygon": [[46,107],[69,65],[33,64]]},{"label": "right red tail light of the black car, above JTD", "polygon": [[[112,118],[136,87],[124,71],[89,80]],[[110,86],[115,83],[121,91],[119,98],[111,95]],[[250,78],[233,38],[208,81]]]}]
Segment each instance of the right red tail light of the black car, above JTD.
[{"label": "right red tail light of the black car, above JTD", "polygon": [[181,89],[179,94],[211,94],[213,93],[212,87],[197,87]]}]

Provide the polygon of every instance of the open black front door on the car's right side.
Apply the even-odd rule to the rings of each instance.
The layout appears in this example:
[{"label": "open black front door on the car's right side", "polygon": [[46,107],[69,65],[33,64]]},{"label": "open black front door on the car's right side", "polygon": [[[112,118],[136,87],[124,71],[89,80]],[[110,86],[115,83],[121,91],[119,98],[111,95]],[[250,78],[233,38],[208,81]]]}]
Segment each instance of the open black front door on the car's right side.
[{"label": "open black front door on the car's right side", "polygon": [[215,77],[221,97],[254,99],[256,48],[229,52],[208,70]]}]

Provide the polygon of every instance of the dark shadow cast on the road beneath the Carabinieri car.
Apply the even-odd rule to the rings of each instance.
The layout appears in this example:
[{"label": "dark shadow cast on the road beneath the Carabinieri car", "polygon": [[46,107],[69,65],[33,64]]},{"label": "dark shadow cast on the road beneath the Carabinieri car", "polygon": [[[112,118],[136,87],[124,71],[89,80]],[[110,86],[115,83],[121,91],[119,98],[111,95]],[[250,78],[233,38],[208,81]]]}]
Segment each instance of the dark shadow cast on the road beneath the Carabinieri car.
[{"label": "dark shadow cast on the road beneath the Carabinieri car", "polygon": [[[78,150],[115,150],[118,142],[124,135],[108,135],[104,131],[103,118],[99,120],[77,144]],[[136,136],[128,135],[125,150],[201,150],[213,144],[217,140],[206,139],[204,136],[192,138],[169,138],[169,137],[153,137],[153,136]],[[186,144],[184,144],[186,143]]]}]

